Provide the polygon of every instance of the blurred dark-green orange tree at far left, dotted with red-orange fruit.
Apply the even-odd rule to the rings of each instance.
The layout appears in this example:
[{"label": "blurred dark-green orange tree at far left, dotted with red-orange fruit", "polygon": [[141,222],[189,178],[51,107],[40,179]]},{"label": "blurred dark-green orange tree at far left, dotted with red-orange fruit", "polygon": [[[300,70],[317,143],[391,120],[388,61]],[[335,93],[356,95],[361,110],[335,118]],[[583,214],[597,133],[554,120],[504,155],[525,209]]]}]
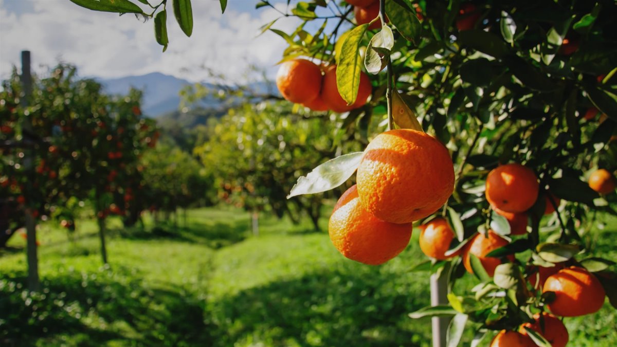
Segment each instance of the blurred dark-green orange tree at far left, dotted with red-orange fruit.
[{"label": "blurred dark-green orange tree at far left, dotted with red-orange fruit", "polygon": [[[69,229],[75,227],[75,199],[91,199],[101,220],[109,213],[138,215],[143,206],[132,208],[144,185],[138,157],[156,137],[154,122],[141,115],[141,93],[107,96],[100,83],[78,78],[75,67],[60,64],[35,80],[25,107],[20,83],[14,72],[2,90],[4,211],[28,206],[35,218],[56,217]],[[30,133],[25,122],[31,123]],[[31,172],[25,159],[33,162]],[[19,215],[10,214],[10,230],[23,226]]]}]

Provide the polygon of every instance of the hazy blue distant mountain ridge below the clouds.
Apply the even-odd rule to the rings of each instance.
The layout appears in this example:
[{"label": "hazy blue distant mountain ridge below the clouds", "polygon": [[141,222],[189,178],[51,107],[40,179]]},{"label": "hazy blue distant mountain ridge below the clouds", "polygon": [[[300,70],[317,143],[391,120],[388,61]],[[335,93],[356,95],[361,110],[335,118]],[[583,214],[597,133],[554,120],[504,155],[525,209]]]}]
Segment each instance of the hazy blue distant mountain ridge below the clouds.
[{"label": "hazy blue distant mountain ridge below the clouds", "polygon": [[[160,72],[120,78],[99,78],[98,80],[109,94],[126,94],[131,87],[142,90],[144,96],[141,108],[145,115],[152,118],[159,118],[164,114],[178,111],[180,90],[185,86],[193,85],[187,80]],[[206,86],[213,85],[206,84]],[[258,93],[271,92],[266,82],[252,83],[251,88]],[[278,93],[278,91],[274,92]],[[207,98],[197,102],[195,106],[204,109],[218,109],[222,106],[222,101],[217,98]]]}]

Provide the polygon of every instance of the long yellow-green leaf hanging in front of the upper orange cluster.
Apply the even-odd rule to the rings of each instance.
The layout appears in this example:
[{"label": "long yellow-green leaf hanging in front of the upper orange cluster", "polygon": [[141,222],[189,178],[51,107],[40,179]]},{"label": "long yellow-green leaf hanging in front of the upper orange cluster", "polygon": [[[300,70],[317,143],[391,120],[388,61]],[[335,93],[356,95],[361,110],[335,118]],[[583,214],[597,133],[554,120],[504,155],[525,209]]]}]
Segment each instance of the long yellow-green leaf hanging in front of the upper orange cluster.
[{"label": "long yellow-green leaf hanging in front of the upper orange cluster", "polygon": [[349,31],[341,48],[339,65],[336,67],[336,86],[348,105],[358,97],[362,58],[358,53],[368,24],[358,25]]}]

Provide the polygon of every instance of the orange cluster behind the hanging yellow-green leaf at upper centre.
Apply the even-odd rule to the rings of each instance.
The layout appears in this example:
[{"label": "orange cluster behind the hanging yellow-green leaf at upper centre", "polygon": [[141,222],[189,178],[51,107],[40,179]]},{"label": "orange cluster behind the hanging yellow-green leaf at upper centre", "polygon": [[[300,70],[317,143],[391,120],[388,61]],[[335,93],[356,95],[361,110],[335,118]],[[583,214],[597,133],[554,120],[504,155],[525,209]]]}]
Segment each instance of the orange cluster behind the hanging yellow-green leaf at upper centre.
[{"label": "orange cluster behind the hanging yellow-green leaf at upper centre", "polygon": [[336,65],[324,68],[307,59],[293,59],[281,64],[276,74],[276,86],[283,98],[313,111],[348,112],[364,106],[373,92],[368,76],[360,72],[356,100],[347,105],[336,85]]}]

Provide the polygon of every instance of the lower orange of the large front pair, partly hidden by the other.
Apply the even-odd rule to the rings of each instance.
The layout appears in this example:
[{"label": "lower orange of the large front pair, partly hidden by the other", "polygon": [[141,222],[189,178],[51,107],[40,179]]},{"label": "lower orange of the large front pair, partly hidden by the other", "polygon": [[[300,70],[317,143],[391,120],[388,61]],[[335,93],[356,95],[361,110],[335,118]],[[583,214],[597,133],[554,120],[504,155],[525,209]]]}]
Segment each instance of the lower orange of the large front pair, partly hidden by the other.
[{"label": "lower orange of the large front pair, partly hidden by the other", "polygon": [[367,212],[356,186],[342,194],[328,223],[330,240],[343,256],[379,265],[401,253],[412,236],[412,224],[394,224]]}]

